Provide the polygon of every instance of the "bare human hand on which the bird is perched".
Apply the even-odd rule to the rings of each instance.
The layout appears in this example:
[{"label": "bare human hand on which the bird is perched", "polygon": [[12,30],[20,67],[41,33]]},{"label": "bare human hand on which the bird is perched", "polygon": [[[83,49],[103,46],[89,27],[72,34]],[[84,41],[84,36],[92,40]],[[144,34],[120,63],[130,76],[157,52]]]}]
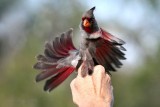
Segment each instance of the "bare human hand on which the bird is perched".
[{"label": "bare human hand on which the bird is perched", "polygon": [[85,77],[81,76],[81,67],[70,84],[73,102],[79,107],[112,107],[113,87],[104,67],[95,66],[93,74]]}]

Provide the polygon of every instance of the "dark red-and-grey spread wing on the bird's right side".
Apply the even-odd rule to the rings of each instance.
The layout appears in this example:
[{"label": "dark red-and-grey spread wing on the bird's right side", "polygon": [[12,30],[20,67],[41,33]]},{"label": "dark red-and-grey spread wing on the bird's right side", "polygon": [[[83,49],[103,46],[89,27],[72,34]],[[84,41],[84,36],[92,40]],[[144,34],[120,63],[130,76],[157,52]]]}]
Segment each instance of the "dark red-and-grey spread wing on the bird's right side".
[{"label": "dark red-and-grey spread wing on the bird's right side", "polygon": [[95,63],[103,65],[106,71],[116,71],[122,63],[120,60],[124,57],[125,48],[122,46],[125,42],[112,36],[108,32],[102,30],[102,37],[90,40],[89,52],[91,53]]}]

